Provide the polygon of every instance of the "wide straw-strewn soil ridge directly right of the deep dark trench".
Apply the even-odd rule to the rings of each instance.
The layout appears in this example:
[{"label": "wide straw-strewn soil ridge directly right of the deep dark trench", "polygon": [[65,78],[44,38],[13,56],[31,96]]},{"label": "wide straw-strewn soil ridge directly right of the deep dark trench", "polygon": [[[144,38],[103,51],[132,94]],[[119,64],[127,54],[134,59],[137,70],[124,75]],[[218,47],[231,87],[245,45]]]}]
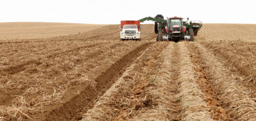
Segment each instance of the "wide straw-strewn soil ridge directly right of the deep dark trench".
[{"label": "wide straw-strewn soil ridge directly right of the deep dark trench", "polygon": [[100,97],[93,109],[84,114],[83,120],[127,120],[141,109],[155,106],[148,88],[155,87],[150,79],[154,79],[156,74],[150,70],[160,66],[160,61],[157,60],[166,47],[164,43],[156,43],[145,50],[105,95]]}]

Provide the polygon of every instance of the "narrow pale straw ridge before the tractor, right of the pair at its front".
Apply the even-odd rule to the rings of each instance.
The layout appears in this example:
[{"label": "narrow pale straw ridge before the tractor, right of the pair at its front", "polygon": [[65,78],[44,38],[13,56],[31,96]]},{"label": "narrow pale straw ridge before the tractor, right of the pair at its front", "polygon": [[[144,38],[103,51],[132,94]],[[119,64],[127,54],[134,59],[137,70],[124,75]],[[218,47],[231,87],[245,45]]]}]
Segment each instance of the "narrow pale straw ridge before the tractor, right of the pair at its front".
[{"label": "narrow pale straw ridge before the tractor, right of the pair at its front", "polygon": [[179,100],[182,103],[182,120],[212,120],[207,104],[203,101],[204,93],[196,82],[189,50],[184,42],[177,44],[176,55],[179,58]]}]

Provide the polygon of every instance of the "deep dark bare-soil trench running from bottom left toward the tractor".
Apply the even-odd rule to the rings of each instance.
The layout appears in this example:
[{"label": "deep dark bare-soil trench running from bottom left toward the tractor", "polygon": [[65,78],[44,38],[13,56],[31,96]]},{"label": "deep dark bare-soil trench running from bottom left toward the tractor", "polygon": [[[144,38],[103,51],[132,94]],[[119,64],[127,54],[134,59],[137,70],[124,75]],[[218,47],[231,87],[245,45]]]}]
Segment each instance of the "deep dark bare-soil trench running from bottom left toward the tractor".
[{"label": "deep dark bare-soil trench running from bottom left toward the tractor", "polygon": [[[61,104],[42,120],[79,120],[82,119],[82,112],[87,112],[95,104],[95,100],[114,84],[114,80],[122,76],[127,66],[130,66],[135,58],[139,57],[143,50],[147,49],[152,43],[140,45],[136,49],[124,55],[116,63],[112,64],[103,74],[96,77],[95,87],[83,87],[79,95],[75,95],[70,101]],[[106,81],[107,80],[107,81]],[[95,92],[96,90],[96,92]],[[83,98],[86,97],[86,98]]]}]

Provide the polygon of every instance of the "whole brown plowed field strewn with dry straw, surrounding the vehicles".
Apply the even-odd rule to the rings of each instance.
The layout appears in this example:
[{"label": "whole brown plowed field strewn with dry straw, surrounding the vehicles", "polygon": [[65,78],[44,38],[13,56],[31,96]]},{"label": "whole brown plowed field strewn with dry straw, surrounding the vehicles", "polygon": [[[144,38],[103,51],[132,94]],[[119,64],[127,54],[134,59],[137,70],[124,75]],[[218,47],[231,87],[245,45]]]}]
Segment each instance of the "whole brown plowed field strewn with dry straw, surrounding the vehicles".
[{"label": "whole brown plowed field strewn with dry straw, surrounding the vehicles", "polygon": [[92,26],[4,34],[0,120],[256,120],[256,25],[204,24],[195,42]]}]

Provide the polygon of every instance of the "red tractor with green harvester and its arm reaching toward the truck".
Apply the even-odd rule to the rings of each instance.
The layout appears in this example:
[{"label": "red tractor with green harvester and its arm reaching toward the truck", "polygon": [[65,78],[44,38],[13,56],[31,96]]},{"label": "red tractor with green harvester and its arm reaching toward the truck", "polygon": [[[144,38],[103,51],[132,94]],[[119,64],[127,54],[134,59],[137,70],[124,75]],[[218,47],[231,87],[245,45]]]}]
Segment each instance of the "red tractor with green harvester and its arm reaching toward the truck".
[{"label": "red tractor with green harvester and its arm reaching toward the truck", "polygon": [[158,34],[156,41],[179,41],[187,40],[194,41],[194,36],[197,36],[198,30],[202,28],[202,21],[183,21],[181,17],[170,17],[164,20],[163,15],[153,17],[145,17],[140,19],[143,21],[155,21],[155,33]]}]

